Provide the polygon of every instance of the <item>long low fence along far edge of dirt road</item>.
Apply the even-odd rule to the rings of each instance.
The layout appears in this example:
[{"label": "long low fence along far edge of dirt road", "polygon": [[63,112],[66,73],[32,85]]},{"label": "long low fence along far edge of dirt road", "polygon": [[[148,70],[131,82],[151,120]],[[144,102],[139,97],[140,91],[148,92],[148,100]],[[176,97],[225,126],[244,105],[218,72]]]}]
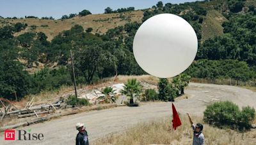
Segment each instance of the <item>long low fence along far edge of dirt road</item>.
[{"label": "long low fence along far edge of dirt road", "polygon": [[193,83],[211,83],[217,85],[231,85],[231,86],[254,86],[256,81],[240,81],[236,79],[206,79],[206,78],[191,78]]}]

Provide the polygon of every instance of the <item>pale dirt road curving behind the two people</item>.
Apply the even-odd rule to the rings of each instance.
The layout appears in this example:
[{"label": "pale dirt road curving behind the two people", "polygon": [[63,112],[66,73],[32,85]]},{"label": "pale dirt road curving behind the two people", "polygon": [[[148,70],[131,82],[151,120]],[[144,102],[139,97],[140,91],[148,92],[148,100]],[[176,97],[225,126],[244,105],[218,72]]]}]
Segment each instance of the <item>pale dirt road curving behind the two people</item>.
[{"label": "pale dirt road curving behind the two people", "polygon": [[[231,100],[239,107],[249,105],[256,108],[256,92],[235,86],[191,83],[185,93],[188,94],[188,99],[175,102],[176,109],[180,113],[188,112],[192,115],[202,116],[207,104],[219,100]],[[44,134],[42,141],[4,141],[4,134],[1,134],[0,144],[75,144],[77,122],[86,123],[86,129],[90,135],[89,141],[93,141],[111,132],[125,130],[141,121],[170,116],[171,111],[170,102],[154,102],[140,107],[116,107],[63,116],[56,120],[18,128],[18,130],[31,129],[31,134]],[[18,139],[17,130],[15,138]]]}]

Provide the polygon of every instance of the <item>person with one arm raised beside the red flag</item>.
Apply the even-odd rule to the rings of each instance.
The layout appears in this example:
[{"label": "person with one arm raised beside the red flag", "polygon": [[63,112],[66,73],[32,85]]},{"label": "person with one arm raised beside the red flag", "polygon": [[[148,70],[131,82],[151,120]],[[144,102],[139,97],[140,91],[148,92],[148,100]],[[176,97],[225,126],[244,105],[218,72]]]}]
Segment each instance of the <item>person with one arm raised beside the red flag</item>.
[{"label": "person with one arm raised beside the red flag", "polygon": [[[188,114],[188,113],[187,113]],[[196,125],[191,120],[188,114],[189,122],[193,129],[193,145],[204,145],[204,134],[202,133],[204,126],[201,123],[196,123]]]}]

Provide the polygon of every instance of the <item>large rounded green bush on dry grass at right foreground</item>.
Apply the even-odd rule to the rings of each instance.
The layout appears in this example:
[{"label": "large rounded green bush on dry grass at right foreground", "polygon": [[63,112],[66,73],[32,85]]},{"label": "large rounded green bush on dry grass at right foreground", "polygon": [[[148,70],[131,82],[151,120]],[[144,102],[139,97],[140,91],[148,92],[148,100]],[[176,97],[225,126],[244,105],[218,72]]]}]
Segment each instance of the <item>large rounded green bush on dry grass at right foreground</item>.
[{"label": "large rounded green bush on dry grass at right foreground", "polygon": [[239,107],[230,101],[214,102],[204,111],[204,120],[210,125],[238,130],[249,129],[254,118],[255,109],[248,106],[240,111]]}]

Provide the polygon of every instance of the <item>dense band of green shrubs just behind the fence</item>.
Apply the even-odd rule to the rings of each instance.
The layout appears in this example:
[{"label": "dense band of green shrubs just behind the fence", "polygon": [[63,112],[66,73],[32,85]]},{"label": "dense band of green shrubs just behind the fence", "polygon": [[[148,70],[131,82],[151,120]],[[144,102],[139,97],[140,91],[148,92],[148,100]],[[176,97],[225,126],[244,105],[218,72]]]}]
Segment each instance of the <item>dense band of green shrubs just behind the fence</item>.
[{"label": "dense band of green shrubs just behind the fence", "polygon": [[253,70],[246,62],[239,60],[196,60],[186,70],[193,78],[232,78],[241,81],[253,79]]}]

